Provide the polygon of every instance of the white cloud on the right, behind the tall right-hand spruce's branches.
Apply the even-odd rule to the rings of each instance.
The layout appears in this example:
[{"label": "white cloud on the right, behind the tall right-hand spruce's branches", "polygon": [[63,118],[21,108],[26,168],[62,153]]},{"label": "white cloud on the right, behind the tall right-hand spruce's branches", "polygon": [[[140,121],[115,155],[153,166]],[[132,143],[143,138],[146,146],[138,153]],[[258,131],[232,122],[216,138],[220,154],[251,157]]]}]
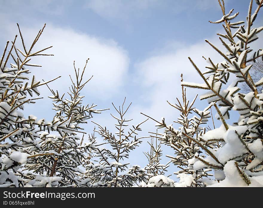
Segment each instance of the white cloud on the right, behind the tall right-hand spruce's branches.
[{"label": "white cloud on the right, behind the tall right-hand spruce's branches", "polygon": [[[210,40],[221,48],[218,38],[213,37]],[[171,45],[180,46],[181,44],[171,43]],[[137,106],[136,110],[141,109],[157,120],[161,117],[166,117],[170,122],[175,120],[179,114],[177,110],[173,110],[168,105],[166,100],[172,103],[175,102],[175,97],[181,100],[181,73],[184,74],[184,81],[202,83],[200,76],[187,57],[190,56],[203,71],[207,66],[206,61],[202,58],[203,55],[206,58],[211,57],[213,61],[221,60],[220,55],[203,41],[191,46],[185,44],[180,48],[174,48],[174,50],[169,49],[169,52],[153,55],[137,63],[135,68],[137,77],[139,77],[138,83],[142,83],[142,88],[145,89],[140,97],[144,99],[145,103],[149,103],[149,106]],[[198,92],[193,89],[186,89],[186,91],[189,100]],[[203,107],[205,105],[206,101],[203,101]]]}]

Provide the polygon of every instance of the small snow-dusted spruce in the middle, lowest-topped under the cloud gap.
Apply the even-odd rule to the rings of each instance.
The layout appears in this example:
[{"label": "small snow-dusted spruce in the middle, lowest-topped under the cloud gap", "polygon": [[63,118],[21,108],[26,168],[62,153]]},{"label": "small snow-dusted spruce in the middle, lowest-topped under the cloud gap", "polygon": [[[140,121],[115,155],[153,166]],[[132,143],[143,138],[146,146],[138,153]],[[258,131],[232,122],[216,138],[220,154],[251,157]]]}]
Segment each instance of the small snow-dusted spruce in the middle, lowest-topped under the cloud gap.
[{"label": "small snow-dusted spruce in the middle, lowest-topped under the cloud gap", "polygon": [[[129,168],[129,163],[125,162],[129,158],[129,152],[134,150],[143,138],[148,138],[137,137],[138,131],[141,131],[140,126],[148,119],[138,125],[128,127],[128,122],[132,119],[126,119],[125,114],[132,103],[124,109],[125,100],[119,108],[116,108],[112,103],[118,113],[117,116],[111,114],[117,121],[117,124],[115,124],[117,132],[115,134],[109,132],[106,127],[103,128],[94,122],[99,128],[95,131],[105,140],[105,143],[91,146],[94,149],[94,162],[91,161],[87,165],[84,175],[85,178],[91,179],[94,187],[131,187],[148,179],[146,170],[138,165]],[[125,128],[129,128],[127,133],[125,133]],[[108,147],[109,145],[110,147]],[[125,163],[122,163],[122,161]]]}]

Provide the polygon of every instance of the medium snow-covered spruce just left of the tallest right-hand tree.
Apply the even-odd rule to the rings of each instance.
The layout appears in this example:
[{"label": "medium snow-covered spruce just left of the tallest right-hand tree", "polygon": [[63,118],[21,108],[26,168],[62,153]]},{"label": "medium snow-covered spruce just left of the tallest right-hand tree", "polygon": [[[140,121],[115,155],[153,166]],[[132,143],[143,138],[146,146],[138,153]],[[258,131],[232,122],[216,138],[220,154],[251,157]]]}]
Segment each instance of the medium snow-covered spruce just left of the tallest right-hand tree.
[{"label": "medium snow-covered spruce just left of the tallest right-hand tree", "polygon": [[[183,74],[181,74],[181,82],[183,81]],[[178,104],[171,104],[169,101],[169,105],[176,108],[180,111],[180,117],[175,123],[180,124],[179,130],[175,129],[172,125],[167,125],[165,119],[162,118],[160,122],[157,122],[156,126],[158,128],[164,128],[163,134],[158,134],[156,136],[160,139],[160,141],[173,148],[175,151],[175,156],[169,156],[171,162],[175,164],[179,169],[178,172],[175,172],[178,178],[180,178],[179,183],[175,183],[176,187],[202,187],[207,184],[207,177],[210,176],[208,173],[211,171],[210,168],[200,168],[198,170],[193,169],[193,164],[196,162],[197,158],[203,158],[202,151],[198,143],[213,146],[214,142],[205,142],[202,140],[202,136],[204,135],[206,128],[202,127],[202,125],[206,124],[208,118],[210,118],[210,111],[208,106],[204,111],[199,111],[194,108],[193,105],[197,95],[194,100],[189,103],[189,100],[186,98],[186,89],[182,86],[182,101],[178,98]],[[195,113],[193,117],[189,118],[190,114]],[[149,117],[149,116],[147,116]],[[151,117],[149,117],[151,118]],[[154,136],[154,135],[152,135]],[[193,138],[189,139],[189,137]]]}]

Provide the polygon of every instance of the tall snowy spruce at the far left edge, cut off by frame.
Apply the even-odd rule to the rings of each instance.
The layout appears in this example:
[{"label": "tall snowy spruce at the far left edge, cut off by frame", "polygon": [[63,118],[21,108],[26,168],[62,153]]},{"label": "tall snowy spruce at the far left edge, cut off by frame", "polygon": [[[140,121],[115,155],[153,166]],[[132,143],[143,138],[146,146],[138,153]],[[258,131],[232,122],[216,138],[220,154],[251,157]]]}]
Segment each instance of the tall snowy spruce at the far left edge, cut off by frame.
[{"label": "tall snowy spruce at the far left edge, cut off by frame", "polygon": [[[17,176],[20,167],[27,162],[28,158],[33,158],[36,155],[28,153],[27,149],[30,146],[35,146],[33,142],[38,135],[38,129],[32,127],[29,116],[28,119],[24,118],[22,111],[25,105],[35,103],[35,100],[41,99],[39,97],[38,87],[49,82],[40,83],[32,77],[31,81],[27,74],[30,70],[27,67],[40,67],[39,65],[30,63],[34,56],[43,54],[45,50],[51,48],[47,47],[39,51],[34,50],[34,46],[39,40],[44,27],[39,30],[36,38],[33,40],[29,49],[26,49],[22,33],[20,31],[20,38],[22,41],[23,49],[16,48],[14,41],[11,41],[11,47],[7,52],[10,44],[7,41],[3,55],[0,60],[0,186],[24,186],[24,181],[21,177]],[[11,60],[10,60],[11,59]],[[10,68],[8,65],[10,64]],[[57,77],[58,78],[58,77]],[[55,79],[54,79],[55,80]],[[23,120],[25,122],[21,123]],[[40,155],[39,155],[40,156]],[[43,155],[41,155],[43,156]]]}]

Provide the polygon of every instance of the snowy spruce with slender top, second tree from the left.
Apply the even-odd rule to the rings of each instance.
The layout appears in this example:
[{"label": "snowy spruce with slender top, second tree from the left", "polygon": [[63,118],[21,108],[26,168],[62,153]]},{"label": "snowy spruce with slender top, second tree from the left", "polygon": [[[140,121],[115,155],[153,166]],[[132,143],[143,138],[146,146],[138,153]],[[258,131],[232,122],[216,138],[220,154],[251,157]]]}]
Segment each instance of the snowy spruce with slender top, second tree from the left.
[{"label": "snowy spruce with slender top, second tree from the left", "polygon": [[[65,93],[59,95],[58,91],[50,89],[53,99],[54,110],[57,111],[53,117],[52,122],[46,122],[44,119],[36,120],[31,118],[32,125],[38,125],[41,134],[38,140],[38,148],[30,149],[28,152],[34,152],[37,154],[50,154],[45,157],[32,157],[27,164],[25,164],[25,170],[30,171],[25,176],[26,178],[35,178],[35,174],[42,176],[42,182],[45,183],[44,177],[59,177],[57,180],[59,183],[54,184],[58,186],[79,186],[80,173],[83,173],[82,166],[89,153],[90,146],[93,142],[82,145],[78,134],[82,134],[82,141],[84,139],[83,128],[81,124],[87,123],[87,120],[92,118],[92,114],[100,113],[103,110],[95,110],[96,105],[89,106],[83,105],[81,90],[89,80],[84,81],[83,75],[87,66],[88,60],[86,60],[85,66],[82,71],[75,70],[75,80],[70,75],[71,87],[68,91],[68,98],[65,98]],[[36,151],[36,152],[35,152]],[[87,161],[86,161],[87,162]],[[33,172],[34,174],[31,174]],[[54,177],[56,176],[56,177]],[[49,179],[48,179],[49,181]],[[38,184],[37,179],[27,183],[27,185]],[[47,184],[44,184],[47,185]],[[50,185],[50,184],[49,184]]]}]

